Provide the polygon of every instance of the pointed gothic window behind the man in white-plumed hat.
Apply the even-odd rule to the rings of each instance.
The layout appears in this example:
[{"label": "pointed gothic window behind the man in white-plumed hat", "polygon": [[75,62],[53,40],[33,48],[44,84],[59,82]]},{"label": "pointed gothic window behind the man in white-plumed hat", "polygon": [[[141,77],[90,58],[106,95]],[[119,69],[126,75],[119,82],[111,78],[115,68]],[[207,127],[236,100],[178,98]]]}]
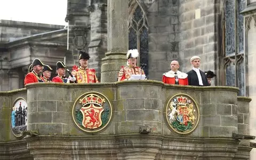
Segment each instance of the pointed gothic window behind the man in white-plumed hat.
[{"label": "pointed gothic window behind the man in white-plumed hat", "polygon": [[137,49],[140,53],[138,66],[142,63],[147,64],[144,68],[148,76],[148,24],[146,13],[142,10],[138,1],[130,4],[129,22],[129,50]]}]

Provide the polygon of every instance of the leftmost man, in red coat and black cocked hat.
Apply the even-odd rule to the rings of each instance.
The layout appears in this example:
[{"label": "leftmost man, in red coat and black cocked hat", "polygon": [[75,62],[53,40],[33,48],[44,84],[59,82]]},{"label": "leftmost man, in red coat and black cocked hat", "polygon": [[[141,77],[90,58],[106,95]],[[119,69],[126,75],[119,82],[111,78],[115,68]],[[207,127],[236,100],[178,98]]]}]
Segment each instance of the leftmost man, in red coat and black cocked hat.
[{"label": "leftmost man, in red coat and black cocked hat", "polygon": [[44,78],[42,77],[42,71],[43,71],[44,63],[39,59],[34,59],[34,61],[31,64],[29,73],[25,76],[24,79],[24,85],[29,83],[37,83],[37,82],[44,82]]}]

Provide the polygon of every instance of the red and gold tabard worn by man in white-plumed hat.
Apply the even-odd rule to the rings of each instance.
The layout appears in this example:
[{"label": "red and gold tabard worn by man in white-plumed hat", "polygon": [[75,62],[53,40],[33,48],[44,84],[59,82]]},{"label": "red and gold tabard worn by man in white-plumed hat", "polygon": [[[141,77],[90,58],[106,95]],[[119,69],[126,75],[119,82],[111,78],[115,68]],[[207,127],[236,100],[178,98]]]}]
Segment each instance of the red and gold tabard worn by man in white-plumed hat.
[{"label": "red and gold tabard worn by man in white-plumed hat", "polygon": [[119,71],[117,81],[124,81],[131,77],[131,75],[145,75],[143,69],[140,67],[124,67]]}]

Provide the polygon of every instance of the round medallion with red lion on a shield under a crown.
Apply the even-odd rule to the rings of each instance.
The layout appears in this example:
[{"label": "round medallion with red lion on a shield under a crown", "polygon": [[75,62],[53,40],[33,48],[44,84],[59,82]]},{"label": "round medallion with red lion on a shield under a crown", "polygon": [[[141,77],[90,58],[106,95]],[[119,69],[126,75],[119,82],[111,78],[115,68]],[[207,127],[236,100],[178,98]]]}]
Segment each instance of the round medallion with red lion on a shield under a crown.
[{"label": "round medallion with red lion on a shield under a crown", "polygon": [[73,121],[84,132],[101,132],[108,126],[112,111],[112,105],[105,95],[99,92],[87,92],[74,103]]}]

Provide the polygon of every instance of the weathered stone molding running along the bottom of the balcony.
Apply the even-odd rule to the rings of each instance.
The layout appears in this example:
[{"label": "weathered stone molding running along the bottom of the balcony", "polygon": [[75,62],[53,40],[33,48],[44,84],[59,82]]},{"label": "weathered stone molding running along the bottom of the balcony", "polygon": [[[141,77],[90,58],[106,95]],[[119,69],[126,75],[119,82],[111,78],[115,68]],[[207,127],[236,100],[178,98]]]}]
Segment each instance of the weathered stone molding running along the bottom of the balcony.
[{"label": "weathered stone molding running along the bottom of the balcony", "polygon": [[[99,135],[97,137],[91,135],[79,137],[39,135],[37,137],[27,137],[26,141],[34,158],[52,157],[52,159],[58,157],[95,157],[95,151],[97,150],[100,150],[97,155],[105,156],[106,159],[123,159],[132,155],[137,158],[147,155],[151,157],[149,159],[174,158],[177,156],[183,158],[194,156],[230,158],[235,157],[239,143],[238,140],[228,138],[165,137],[157,134],[143,134],[143,136],[141,134]],[[169,146],[170,142],[173,144],[172,147]],[[98,143],[101,144],[97,145]],[[241,150],[247,153],[251,150],[251,147],[239,147],[242,147]],[[54,151],[52,151],[53,148]],[[143,154],[141,154],[142,150]],[[148,151],[148,153],[145,153],[145,151]],[[243,158],[241,157],[241,159]]]}]

